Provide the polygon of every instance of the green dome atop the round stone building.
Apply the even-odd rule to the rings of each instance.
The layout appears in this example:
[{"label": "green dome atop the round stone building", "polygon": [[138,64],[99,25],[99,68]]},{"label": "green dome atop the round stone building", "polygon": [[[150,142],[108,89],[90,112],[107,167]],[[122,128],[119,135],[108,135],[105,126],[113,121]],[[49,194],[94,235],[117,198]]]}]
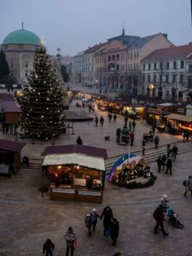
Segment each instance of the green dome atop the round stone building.
[{"label": "green dome atop the round stone building", "polygon": [[41,45],[41,40],[38,36],[28,30],[19,29],[10,32],[3,40],[3,44],[34,44]]}]

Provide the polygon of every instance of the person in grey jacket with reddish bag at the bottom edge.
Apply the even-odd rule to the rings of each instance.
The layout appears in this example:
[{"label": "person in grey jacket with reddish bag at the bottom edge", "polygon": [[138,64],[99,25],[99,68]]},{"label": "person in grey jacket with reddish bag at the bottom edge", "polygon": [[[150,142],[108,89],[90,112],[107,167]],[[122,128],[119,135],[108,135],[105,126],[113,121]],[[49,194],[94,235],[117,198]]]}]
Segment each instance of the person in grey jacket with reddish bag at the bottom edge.
[{"label": "person in grey jacket with reddish bag at the bottom edge", "polygon": [[66,239],[66,242],[67,242],[66,256],[68,256],[69,251],[71,251],[71,256],[73,256],[74,250],[77,247],[77,236],[74,233],[72,227],[68,228],[64,238]]}]

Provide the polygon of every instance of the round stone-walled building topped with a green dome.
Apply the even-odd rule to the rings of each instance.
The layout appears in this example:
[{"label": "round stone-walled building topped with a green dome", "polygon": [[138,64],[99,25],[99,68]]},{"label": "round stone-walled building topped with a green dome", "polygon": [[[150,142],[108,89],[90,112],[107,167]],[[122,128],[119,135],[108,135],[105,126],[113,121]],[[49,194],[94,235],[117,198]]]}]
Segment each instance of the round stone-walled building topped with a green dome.
[{"label": "round stone-walled building topped with a green dome", "polygon": [[10,32],[3,40],[2,48],[9,63],[10,75],[18,83],[25,84],[33,68],[35,50],[41,40],[34,32],[22,28]]}]

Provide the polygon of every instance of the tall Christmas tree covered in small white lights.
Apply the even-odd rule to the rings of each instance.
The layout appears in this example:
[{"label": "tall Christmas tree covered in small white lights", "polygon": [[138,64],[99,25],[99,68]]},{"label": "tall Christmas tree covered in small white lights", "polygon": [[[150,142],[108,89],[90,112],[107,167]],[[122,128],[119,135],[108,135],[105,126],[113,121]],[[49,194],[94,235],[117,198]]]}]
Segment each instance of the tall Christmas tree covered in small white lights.
[{"label": "tall Christmas tree covered in small white lights", "polygon": [[63,94],[44,46],[36,51],[19,103],[20,126],[28,137],[47,141],[61,135],[65,121]]}]

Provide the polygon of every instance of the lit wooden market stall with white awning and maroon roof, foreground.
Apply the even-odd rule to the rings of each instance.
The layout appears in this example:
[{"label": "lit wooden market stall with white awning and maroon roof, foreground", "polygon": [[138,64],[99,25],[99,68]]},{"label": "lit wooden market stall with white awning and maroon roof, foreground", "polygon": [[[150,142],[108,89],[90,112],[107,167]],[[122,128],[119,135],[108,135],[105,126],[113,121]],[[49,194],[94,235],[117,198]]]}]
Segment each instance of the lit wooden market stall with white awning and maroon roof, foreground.
[{"label": "lit wooden market stall with white awning and maroon roof, foreground", "polygon": [[50,199],[102,203],[106,149],[84,145],[49,146],[43,169],[49,177]]}]

